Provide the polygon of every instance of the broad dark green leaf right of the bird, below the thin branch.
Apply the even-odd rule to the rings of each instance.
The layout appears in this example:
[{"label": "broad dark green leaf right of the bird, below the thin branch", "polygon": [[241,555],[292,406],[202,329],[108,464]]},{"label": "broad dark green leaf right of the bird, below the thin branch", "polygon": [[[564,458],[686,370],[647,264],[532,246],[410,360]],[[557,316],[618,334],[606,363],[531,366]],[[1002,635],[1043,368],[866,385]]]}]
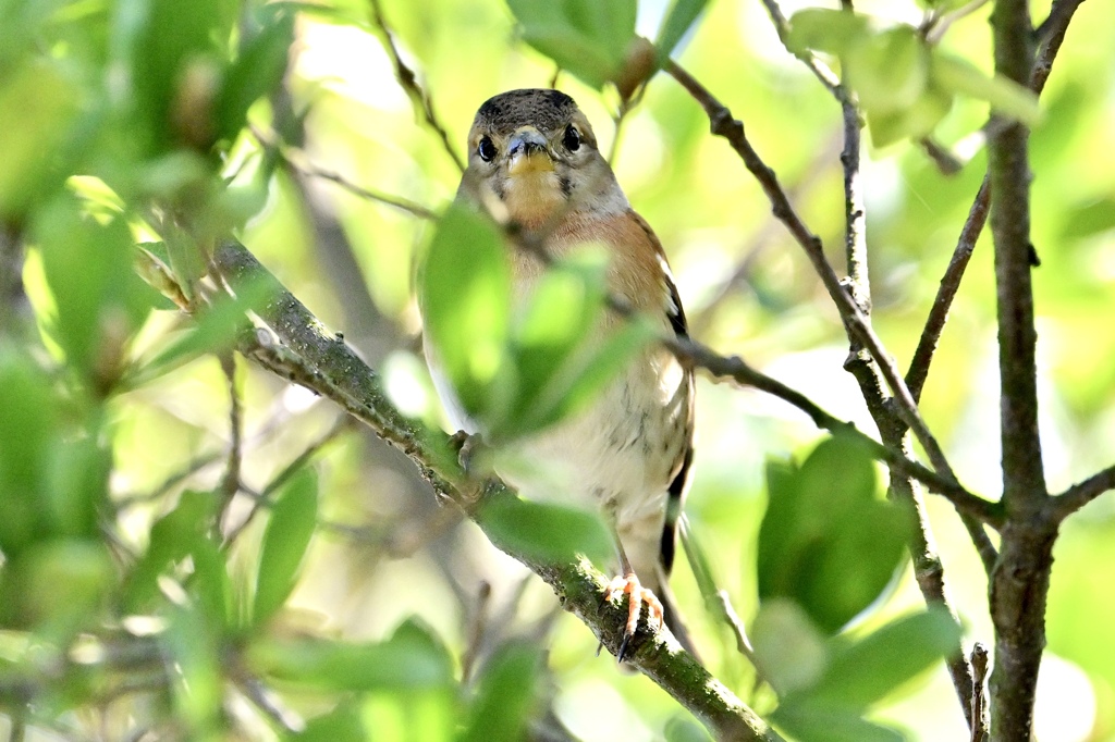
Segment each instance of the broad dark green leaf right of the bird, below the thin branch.
[{"label": "broad dark green leaf right of the bird, below the thin branch", "polygon": [[767,487],[759,597],[796,601],[835,633],[879,597],[905,559],[910,516],[879,498],[874,461],[846,438],[826,439],[801,468],[770,462]]}]

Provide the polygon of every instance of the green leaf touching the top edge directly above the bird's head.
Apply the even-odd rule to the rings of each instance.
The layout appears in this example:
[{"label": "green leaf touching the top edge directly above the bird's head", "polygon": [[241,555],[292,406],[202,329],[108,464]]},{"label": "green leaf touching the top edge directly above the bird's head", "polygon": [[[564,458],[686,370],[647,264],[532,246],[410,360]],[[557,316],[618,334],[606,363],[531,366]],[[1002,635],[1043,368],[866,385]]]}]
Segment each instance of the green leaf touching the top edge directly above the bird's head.
[{"label": "green leaf touching the top edge directly above the bird's head", "polygon": [[634,39],[636,0],[507,0],[523,40],[594,88],[613,80]]}]

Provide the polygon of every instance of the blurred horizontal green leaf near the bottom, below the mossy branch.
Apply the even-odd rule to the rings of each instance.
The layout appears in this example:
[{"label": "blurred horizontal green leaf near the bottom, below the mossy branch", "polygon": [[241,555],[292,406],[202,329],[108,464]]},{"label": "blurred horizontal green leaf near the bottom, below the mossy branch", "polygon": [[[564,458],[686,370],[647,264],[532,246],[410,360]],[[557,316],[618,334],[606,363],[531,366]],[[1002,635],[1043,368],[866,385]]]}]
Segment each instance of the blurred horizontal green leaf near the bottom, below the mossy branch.
[{"label": "blurred horizontal green leaf near the bottom, below the mossy branch", "polygon": [[261,638],[248,650],[254,672],[321,691],[447,687],[453,660],[426,628],[403,624],[382,643]]}]

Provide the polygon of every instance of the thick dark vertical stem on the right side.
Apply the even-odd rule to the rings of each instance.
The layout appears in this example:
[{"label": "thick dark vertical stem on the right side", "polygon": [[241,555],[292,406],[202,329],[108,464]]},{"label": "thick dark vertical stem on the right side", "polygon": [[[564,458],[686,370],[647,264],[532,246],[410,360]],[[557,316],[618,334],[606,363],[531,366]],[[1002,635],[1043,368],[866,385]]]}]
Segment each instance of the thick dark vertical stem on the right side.
[{"label": "thick dark vertical stem on the right side", "polygon": [[[1027,82],[1034,69],[1027,0],[996,0],[991,13],[996,72]],[[1002,502],[999,567],[991,577],[995,625],[991,673],[991,739],[1029,740],[1034,697],[1045,648],[1045,613],[1057,523],[1049,500],[1038,432],[1038,399],[1030,270],[1029,131],[1019,121],[992,117],[988,170],[995,199],[996,305],[999,324]]]}]

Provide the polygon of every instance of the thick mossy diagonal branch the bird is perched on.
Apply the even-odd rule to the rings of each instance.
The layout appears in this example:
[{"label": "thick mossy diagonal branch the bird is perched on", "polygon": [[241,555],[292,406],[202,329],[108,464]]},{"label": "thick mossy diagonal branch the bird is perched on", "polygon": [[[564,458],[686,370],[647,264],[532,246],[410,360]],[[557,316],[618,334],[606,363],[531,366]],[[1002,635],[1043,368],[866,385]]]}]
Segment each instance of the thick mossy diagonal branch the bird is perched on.
[{"label": "thick mossy diagonal branch the bird is perched on", "polygon": [[[278,345],[261,331],[246,338],[248,355],[264,367],[338,403],[377,435],[410,457],[421,476],[443,499],[465,509],[492,543],[541,576],[613,654],[623,637],[627,611],[604,602],[607,579],[583,559],[543,564],[507,544],[491,528],[493,504],[505,505],[514,494],[498,481],[483,490],[457,461],[447,436],[404,417],[387,399],[378,375],[345,343],[327,333],[317,320],[242,245],[225,244],[214,254],[225,283],[235,291],[261,282],[270,299],[253,311],[281,339]],[[631,664],[672,695],[724,740],[780,738],[727,687],[680,648],[669,632],[639,642]]]}]

